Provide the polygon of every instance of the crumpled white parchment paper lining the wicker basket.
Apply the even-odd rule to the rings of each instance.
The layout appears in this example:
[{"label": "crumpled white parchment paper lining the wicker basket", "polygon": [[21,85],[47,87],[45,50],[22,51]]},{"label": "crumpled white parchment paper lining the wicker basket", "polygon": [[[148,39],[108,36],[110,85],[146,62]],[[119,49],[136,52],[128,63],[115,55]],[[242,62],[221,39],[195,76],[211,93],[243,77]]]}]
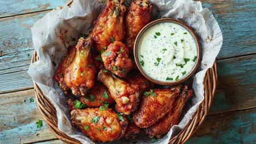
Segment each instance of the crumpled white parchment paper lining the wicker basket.
[{"label": "crumpled white parchment paper lining the wicker basket", "polygon": [[[126,1],[125,4],[129,5],[130,2]],[[201,2],[192,0],[151,0],[151,2],[154,4],[152,20],[171,17],[187,23],[199,37],[202,49],[201,64],[193,80],[195,95],[185,106],[182,121],[174,125],[169,133],[157,142],[167,143],[171,136],[184,128],[203,100],[203,77],[206,70],[212,67],[222,46],[223,38],[216,19],[210,10],[202,8]],[[30,65],[28,74],[56,107],[58,128],[82,143],[94,142],[72,127],[66,105],[67,97],[61,92],[53,77],[57,65],[66,55],[67,47],[75,45],[79,35],[89,34],[93,22],[103,8],[103,1],[74,0],[71,7],[63,6],[54,9],[34,23],[31,28],[34,49],[37,51],[39,61]],[[136,141],[137,143],[152,142],[145,133],[140,134]],[[114,141],[114,143],[120,142],[131,143],[125,140]]]}]

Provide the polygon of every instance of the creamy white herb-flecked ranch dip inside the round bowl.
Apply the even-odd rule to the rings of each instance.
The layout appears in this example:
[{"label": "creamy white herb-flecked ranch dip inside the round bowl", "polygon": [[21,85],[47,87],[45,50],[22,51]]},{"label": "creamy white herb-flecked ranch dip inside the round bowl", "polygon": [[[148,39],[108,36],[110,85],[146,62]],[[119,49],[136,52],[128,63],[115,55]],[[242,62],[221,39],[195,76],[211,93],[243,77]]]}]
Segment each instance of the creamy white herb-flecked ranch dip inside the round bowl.
[{"label": "creamy white herb-flecked ranch dip inside the round bowl", "polygon": [[182,79],[193,69],[197,59],[192,35],[172,22],[149,27],[139,39],[137,52],[144,72],[163,82]]}]

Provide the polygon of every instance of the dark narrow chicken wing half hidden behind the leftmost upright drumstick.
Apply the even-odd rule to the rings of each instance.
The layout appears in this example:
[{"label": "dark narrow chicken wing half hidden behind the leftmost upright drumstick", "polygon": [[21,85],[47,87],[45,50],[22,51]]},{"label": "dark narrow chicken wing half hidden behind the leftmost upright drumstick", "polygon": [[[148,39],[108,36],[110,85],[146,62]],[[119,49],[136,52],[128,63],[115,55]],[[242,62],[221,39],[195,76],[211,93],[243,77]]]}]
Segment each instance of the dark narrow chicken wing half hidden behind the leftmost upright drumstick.
[{"label": "dark narrow chicken wing half hidden behind the leftmost upright drumstick", "polygon": [[68,47],[67,56],[60,63],[54,76],[54,79],[59,83],[61,90],[66,95],[71,94],[71,89],[65,83],[64,74],[67,67],[73,62],[73,59],[75,58],[75,52],[76,52],[75,46]]}]

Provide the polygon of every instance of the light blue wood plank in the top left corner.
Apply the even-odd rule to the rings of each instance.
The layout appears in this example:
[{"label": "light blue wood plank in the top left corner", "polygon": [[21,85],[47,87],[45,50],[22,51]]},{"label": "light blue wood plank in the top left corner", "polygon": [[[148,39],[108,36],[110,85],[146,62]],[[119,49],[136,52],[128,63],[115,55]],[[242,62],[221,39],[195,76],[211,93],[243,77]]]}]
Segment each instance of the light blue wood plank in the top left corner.
[{"label": "light blue wood plank in the top left corner", "polygon": [[0,17],[33,13],[34,11],[48,10],[64,5],[68,0],[25,0],[25,1],[0,1]]}]

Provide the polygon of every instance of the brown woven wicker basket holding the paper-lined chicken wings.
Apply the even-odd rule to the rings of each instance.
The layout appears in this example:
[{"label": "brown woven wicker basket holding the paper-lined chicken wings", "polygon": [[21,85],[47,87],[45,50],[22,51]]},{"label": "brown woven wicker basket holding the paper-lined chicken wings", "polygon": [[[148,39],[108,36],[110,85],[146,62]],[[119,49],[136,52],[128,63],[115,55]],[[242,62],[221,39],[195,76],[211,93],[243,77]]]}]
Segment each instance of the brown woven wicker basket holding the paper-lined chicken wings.
[{"label": "brown woven wicker basket holding the paper-lined chicken wings", "polygon": [[[71,5],[73,0],[69,1],[67,5]],[[38,61],[36,51],[34,51],[31,62]],[[213,97],[216,93],[217,88],[217,64],[214,62],[213,67],[208,69],[206,72],[205,79],[203,81],[205,90],[205,99],[197,108],[192,119],[185,126],[185,128],[176,136],[172,137],[169,143],[185,143],[189,137],[191,137],[197,129],[199,129],[202,122],[205,120],[208,111],[210,110]],[[80,143],[80,141],[69,137],[58,129],[58,121],[56,116],[56,109],[51,101],[42,93],[40,88],[34,82],[34,93],[36,94],[37,106],[39,111],[42,113],[45,123],[48,125],[53,134],[66,143]]]}]

